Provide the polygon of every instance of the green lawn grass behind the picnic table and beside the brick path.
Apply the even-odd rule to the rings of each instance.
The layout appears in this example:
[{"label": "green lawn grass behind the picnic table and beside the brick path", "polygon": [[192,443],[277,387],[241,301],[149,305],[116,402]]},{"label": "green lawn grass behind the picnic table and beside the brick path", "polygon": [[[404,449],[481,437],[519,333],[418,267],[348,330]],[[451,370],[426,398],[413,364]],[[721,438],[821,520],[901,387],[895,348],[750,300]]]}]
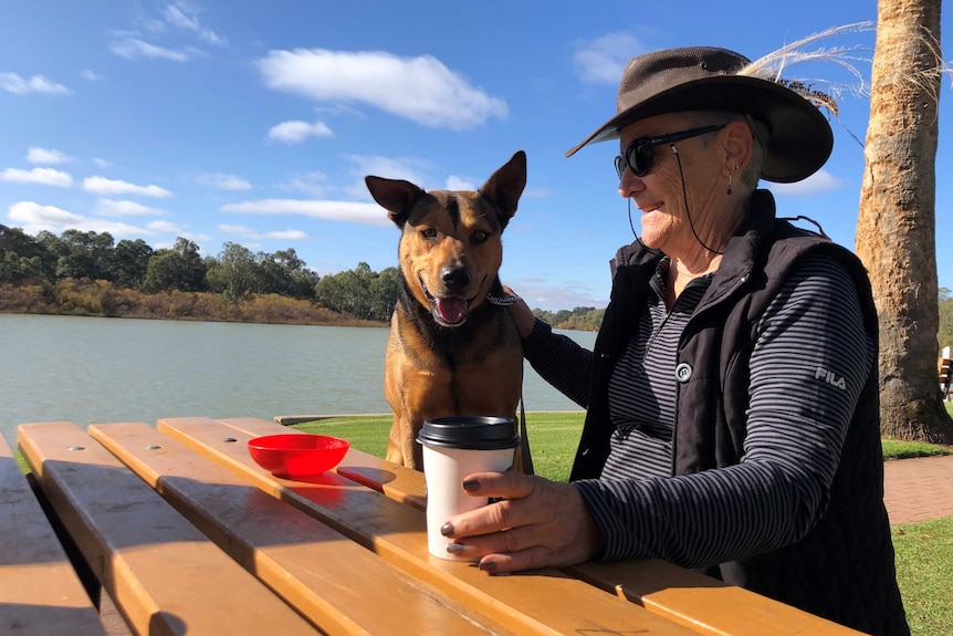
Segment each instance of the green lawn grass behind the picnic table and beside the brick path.
[{"label": "green lawn grass behind the picnic table and beside the brick path", "polygon": [[[951,409],[951,403],[947,409]],[[583,413],[540,413],[526,416],[536,473],[565,481],[576,452]],[[348,439],[365,452],[384,457],[390,415],[332,417],[295,425],[310,432]],[[884,459],[953,453],[930,444],[883,439]],[[897,581],[903,594],[912,636],[946,636],[953,625],[953,517],[891,529],[897,551]]]}]

